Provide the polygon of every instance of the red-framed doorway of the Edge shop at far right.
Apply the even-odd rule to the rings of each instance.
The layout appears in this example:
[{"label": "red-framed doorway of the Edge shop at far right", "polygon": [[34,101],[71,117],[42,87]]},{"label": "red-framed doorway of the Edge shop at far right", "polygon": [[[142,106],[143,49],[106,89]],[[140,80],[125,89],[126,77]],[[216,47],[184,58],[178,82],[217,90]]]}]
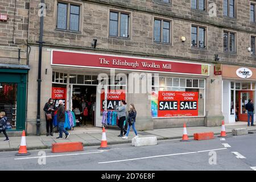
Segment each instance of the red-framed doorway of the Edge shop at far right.
[{"label": "red-framed doorway of the Edge shop at far right", "polygon": [[247,122],[247,110],[245,105],[248,100],[254,100],[254,94],[252,90],[237,90],[236,91],[236,115],[237,121]]}]

